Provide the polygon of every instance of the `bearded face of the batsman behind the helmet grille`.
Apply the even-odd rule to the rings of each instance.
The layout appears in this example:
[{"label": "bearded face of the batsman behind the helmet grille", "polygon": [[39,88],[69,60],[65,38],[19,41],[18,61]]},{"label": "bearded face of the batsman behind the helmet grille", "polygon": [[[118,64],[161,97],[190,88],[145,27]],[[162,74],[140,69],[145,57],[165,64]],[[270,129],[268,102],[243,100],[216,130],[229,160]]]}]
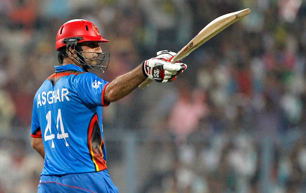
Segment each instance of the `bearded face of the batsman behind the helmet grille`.
[{"label": "bearded face of the batsman behind the helmet grille", "polygon": [[[79,45],[83,49],[82,55],[84,57],[84,61],[89,65],[96,66],[99,55],[95,52],[102,52],[102,49],[99,46],[98,42],[96,41],[82,42],[82,43],[79,43]],[[86,52],[94,52],[94,53],[86,53]]]}]

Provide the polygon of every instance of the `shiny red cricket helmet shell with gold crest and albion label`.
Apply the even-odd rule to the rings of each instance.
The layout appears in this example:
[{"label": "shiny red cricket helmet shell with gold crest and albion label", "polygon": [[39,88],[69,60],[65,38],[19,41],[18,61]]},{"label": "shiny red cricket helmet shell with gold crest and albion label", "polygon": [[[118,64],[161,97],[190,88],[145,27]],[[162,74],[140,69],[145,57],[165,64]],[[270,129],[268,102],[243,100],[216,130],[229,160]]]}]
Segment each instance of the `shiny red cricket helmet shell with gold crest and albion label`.
[{"label": "shiny red cricket helmet shell with gold crest and albion label", "polygon": [[77,42],[98,41],[108,42],[109,40],[101,37],[99,29],[90,21],[84,19],[74,19],[67,21],[59,28],[55,47],[59,48],[66,46],[68,42],[76,44]]}]

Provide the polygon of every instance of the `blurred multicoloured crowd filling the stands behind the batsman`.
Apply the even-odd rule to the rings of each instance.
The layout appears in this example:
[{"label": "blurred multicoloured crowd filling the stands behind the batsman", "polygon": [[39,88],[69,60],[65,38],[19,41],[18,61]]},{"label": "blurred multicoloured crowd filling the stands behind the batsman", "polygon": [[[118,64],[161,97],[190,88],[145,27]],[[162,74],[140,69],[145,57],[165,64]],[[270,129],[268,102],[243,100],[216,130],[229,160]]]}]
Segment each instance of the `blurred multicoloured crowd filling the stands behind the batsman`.
[{"label": "blurred multicoloured crowd filling the stands behind the batsman", "polygon": [[0,193],[36,191],[43,160],[30,145],[33,97],[58,65],[63,23],[92,21],[110,40],[109,67],[97,75],[111,81],[245,8],[250,15],[183,59],[175,81],[104,108],[109,171],[125,159],[124,140],[108,143],[108,134],[123,129],[137,138],[136,192],[305,192],[306,2],[0,0]]}]

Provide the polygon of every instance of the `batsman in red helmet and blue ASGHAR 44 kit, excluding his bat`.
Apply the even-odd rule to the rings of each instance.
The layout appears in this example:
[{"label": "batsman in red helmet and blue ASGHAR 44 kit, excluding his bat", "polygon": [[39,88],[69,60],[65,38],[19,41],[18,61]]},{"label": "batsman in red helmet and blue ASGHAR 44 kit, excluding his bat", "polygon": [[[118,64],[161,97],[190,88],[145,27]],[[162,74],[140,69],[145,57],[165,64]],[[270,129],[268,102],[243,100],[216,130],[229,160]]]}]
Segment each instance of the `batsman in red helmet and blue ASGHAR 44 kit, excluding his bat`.
[{"label": "batsman in red helmet and blue ASGHAR 44 kit, excluding his bat", "polygon": [[109,53],[100,45],[108,41],[84,19],[67,21],[58,30],[59,65],[37,90],[32,111],[32,147],[44,158],[39,193],[118,192],[107,172],[102,107],[146,78],[169,82],[187,67],[170,62],[176,53],[162,51],[107,82],[88,69],[105,71]]}]

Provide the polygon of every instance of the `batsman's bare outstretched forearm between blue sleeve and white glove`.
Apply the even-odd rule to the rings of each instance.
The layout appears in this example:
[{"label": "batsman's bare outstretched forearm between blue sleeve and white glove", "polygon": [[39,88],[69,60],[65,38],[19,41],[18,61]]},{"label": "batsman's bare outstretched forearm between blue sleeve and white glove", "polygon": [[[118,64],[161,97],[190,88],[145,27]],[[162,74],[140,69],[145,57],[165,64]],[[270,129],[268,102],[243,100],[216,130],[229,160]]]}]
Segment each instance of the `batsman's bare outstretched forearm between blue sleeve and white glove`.
[{"label": "batsman's bare outstretched forearm between blue sleeve and white glove", "polygon": [[106,86],[104,101],[110,103],[125,97],[145,79],[142,65],[137,66],[134,70],[115,78]]}]

